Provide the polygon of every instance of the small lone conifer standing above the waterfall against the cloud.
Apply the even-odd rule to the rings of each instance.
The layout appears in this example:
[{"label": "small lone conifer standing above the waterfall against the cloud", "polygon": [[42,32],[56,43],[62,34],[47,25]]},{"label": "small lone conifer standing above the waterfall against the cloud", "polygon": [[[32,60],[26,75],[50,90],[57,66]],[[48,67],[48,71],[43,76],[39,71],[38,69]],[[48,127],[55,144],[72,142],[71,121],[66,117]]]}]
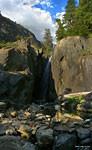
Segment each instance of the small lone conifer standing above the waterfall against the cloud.
[{"label": "small lone conifer standing above the waterfall against the cloud", "polygon": [[49,52],[52,51],[53,48],[53,43],[52,43],[52,36],[50,29],[45,29],[45,34],[44,34],[44,49]]}]

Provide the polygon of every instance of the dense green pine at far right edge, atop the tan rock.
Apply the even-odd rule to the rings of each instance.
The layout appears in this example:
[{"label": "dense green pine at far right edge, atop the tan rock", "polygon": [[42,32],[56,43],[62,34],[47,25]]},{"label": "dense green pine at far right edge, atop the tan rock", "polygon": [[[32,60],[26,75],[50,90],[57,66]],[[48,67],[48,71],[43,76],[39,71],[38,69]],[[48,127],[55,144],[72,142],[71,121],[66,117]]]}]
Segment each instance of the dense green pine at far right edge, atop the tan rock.
[{"label": "dense green pine at far right edge, atop the tan rock", "polygon": [[74,32],[79,36],[92,36],[92,0],[80,0],[75,15]]}]

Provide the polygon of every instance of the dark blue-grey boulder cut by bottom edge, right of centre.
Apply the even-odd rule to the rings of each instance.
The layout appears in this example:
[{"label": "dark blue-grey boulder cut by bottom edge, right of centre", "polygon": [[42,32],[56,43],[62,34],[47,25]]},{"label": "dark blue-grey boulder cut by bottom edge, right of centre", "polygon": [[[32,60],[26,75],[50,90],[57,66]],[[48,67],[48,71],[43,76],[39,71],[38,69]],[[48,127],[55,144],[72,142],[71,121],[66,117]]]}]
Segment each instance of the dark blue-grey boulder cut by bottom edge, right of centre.
[{"label": "dark blue-grey boulder cut by bottom edge, right of centre", "polygon": [[74,150],[77,143],[76,136],[61,134],[55,138],[53,150]]}]

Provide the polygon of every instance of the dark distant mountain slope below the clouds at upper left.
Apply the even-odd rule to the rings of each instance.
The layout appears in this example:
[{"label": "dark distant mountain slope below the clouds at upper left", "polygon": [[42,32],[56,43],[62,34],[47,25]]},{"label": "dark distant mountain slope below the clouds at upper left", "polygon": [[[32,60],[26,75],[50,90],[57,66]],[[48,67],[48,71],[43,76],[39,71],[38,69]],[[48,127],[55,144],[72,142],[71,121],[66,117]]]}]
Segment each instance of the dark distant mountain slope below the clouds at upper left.
[{"label": "dark distant mountain slope below the clouds at upper left", "polygon": [[32,44],[41,45],[31,31],[0,14],[0,41],[14,42],[21,37],[30,37]]}]

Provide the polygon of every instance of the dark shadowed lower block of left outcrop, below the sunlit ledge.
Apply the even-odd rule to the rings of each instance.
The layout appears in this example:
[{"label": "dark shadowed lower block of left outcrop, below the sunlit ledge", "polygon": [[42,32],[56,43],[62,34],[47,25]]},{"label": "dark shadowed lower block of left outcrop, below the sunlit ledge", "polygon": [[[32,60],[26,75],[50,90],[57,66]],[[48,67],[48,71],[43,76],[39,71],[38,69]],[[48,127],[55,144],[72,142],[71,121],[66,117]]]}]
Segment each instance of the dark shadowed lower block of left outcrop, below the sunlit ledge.
[{"label": "dark shadowed lower block of left outcrop, below the sunlit ledge", "polygon": [[31,74],[0,71],[0,101],[22,108],[32,102],[33,83]]}]

